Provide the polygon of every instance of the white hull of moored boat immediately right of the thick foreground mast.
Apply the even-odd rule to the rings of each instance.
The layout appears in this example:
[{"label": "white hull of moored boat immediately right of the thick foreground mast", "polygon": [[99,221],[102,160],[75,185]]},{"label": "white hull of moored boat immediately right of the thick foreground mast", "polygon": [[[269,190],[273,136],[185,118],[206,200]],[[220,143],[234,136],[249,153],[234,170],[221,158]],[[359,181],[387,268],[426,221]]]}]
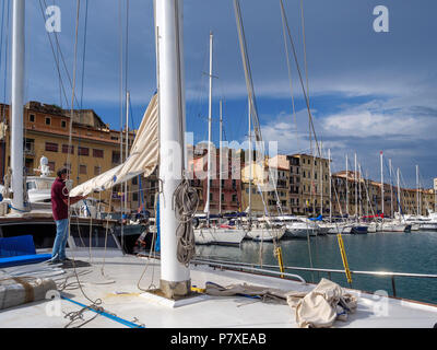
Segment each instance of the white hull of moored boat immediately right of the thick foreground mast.
[{"label": "white hull of moored boat immediately right of the thick foreground mast", "polygon": [[243,229],[194,229],[196,244],[239,245],[245,236]]}]

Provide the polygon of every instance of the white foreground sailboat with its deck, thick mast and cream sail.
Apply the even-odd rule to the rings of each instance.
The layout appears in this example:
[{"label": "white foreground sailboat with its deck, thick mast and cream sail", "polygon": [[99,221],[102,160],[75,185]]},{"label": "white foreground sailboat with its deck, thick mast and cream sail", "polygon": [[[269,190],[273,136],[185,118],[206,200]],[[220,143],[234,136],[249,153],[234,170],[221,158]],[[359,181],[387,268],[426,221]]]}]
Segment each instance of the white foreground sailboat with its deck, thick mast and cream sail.
[{"label": "white foreground sailboat with its deck, thick mast and cream sail", "polygon": [[[24,14],[24,0],[14,2],[23,5]],[[180,209],[181,198],[178,195],[182,194],[186,195],[182,198],[186,200],[184,203],[188,205],[188,214],[192,214],[189,203],[196,199],[196,195],[187,187],[187,182],[178,178],[182,165],[168,166],[172,165],[172,153],[170,148],[166,148],[168,141],[176,140],[184,144],[179,133],[185,128],[184,80],[180,72],[181,4],[180,0],[155,2],[156,48],[164,54],[157,55],[161,72],[158,162],[163,182],[160,198],[161,256],[151,255],[145,260],[138,256],[123,256],[120,249],[105,245],[104,249],[93,252],[70,248],[68,254],[73,260],[69,268],[45,262],[2,268],[0,283],[7,290],[13,285],[15,289],[11,294],[16,300],[21,296],[22,305],[2,310],[0,324],[10,328],[258,328],[251,331],[255,335],[260,335],[259,330],[267,332],[267,328],[277,327],[433,327],[437,316],[435,305],[342,289],[326,279],[315,287],[286,271],[232,261],[193,259],[191,221],[185,217],[187,212],[177,210]],[[149,130],[154,130],[153,120],[156,119],[151,115],[147,117],[146,113],[145,124]],[[153,139],[156,133],[143,136]],[[141,140],[137,144],[140,143]],[[151,147],[153,153],[154,145],[144,144],[144,148]],[[134,154],[141,154],[142,149],[135,150],[139,153],[131,152],[117,171],[97,179],[95,188],[106,188],[120,180],[118,176],[126,179],[140,172],[138,164],[141,159],[135,160]],[[184,158],[182,150],[174,156]],[[172,148],[172,151],[175,149]],[[142,171],[149,172],[154,162],[143,164]],[[169,176],[170,170],[176,172],[173,174],[176,176]],[[75,189],[83,192],[88,190],[92,190],[92,183]],[[174,201],[169,200],[173,196]],[[90,262],[81,261],[88,254],[92,254]],[[68,283],[70,278],[73,283]],[[196,281],[196,287],[191,285],[191,281]],[[156,288],[155,283],[160,287]],[[42,291],[45,285],[51,288],[47,294]],[[34,290],[38,290],[38,293],[29,292]],[[45,298],[46,305],[40,303]],[[277,304],[273,306],[253,302],[253,298],[256,301],[275,301]],[[198,322],[193,323],[193,319]],[[158,341],[166,346],[169,342],[167,337],[160,337]]]}]

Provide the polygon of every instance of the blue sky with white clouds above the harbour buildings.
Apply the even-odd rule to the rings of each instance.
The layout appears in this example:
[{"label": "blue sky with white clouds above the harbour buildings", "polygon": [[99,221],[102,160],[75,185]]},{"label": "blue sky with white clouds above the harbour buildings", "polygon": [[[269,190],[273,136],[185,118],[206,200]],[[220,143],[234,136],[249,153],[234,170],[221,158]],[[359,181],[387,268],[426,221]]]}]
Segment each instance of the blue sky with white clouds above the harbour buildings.
[{"label": "blue sky with white clouds above the harbour buildings", "polygon": [[[9,103],[8,2],[0,4],[0,98]],[[46,32],[40,4],[44,10],[51,4],[61,10],[58,40],[67,67],[60,60],[64,96],[49,40],[55,42],[55,36]],[[66,72],[73,80],[76,5],[78,0],[26,1],[26,101],[69,108],[72,89]],[[388,32],[374,30],[377,5],[388,9]],[[240,7],[262,137],[277,141],[282,153],[309,152],[308,112],[293,56],[292,79],[288,75],[280,1],[240,0]],[[306,70],[300,0],[284,0],[284,7],[304,82],[308,77],[317,138],[324,156],[330,149],[333,171],[345,168],[346,154],[353,168],[356,153],[364,175],[379,180],[382,151],[386,180],[390,159],[393,168],[401,171],[402,186],[416,186],[418,165],[422,186],[432,187],[437,177],[437,3],[304,0]],[[153,1],[81,0],[79,13],[75,91],[80,106],[94,109],[119,130],[125,118],[120,90],[123,96],[127,89],[130,128],[138,127],[156,90]],[[218,140],[222,100],[225,139],[243,142],[248,129],[247,90],[233,0],[184,0],[187,131],[194,133],[196,142],[208,139],[210,32],[217,77],[213,141]]]}]

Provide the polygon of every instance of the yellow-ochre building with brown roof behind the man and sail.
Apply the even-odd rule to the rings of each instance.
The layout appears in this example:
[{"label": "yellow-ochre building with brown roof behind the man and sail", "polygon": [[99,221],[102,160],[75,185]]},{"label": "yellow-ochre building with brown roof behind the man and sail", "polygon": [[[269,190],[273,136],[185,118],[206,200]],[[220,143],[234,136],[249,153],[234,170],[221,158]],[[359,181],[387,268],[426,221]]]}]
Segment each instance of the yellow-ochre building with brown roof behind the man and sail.
[{"label": "yellow-ochre building with brown roof behind the man and sail", "polygon": [[[0,130],[0,178],[10,166],[10,113],[8,105],[0,105],[0,114],[5,116]],[[24,107],[24,165],[26,175],[39,175],[39,160],[48,159],[50,171],[56,172],[67,166],[71,170],[73,186],[106,172],[120,164],[120,131],[110,130],[92,109],[74,110],[71,120],[70,110],[58,106],[29,102]],[[70,125],[71,144],[70,144]],[[129,145],[134,132],[129,133]],[[125,145],[123,150],[125,152]],[[121,209],[125,188],[118,186],[113,191],[94,194],[106,205],[111,202],[111,210]],[[137,210],[141,205],[138,178],[128,183],[127,207]]]}]

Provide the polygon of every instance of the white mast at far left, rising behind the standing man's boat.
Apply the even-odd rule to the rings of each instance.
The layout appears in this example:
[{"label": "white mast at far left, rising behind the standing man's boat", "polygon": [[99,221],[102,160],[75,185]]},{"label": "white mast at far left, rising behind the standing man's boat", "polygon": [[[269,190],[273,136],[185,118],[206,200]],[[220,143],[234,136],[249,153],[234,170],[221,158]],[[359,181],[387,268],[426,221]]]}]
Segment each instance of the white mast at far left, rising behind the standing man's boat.
[{"label": "white mast at far left, rising behind the standing man's boat", "polygon": [[12,207],[24,210],[23,186],[23,100],[24,100],[24,0],[13,1],[12,19],[12,93],[11,93],[11,167]]}]

